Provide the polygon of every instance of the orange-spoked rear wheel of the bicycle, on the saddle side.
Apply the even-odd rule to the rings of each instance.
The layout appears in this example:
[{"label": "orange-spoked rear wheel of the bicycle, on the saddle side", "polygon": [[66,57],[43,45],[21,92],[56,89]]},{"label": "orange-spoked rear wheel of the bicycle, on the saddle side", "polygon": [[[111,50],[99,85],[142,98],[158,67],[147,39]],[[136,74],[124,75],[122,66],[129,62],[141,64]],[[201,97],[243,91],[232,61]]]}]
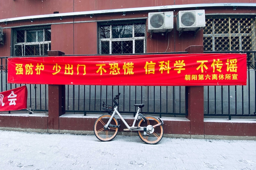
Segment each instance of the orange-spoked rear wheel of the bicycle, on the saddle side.
[{"label": "orange-spoked rear wheel of the bicycle, on the saddle side", "polygon": [[[156,124],[161,123],[157,118],[155,118],[154,116],[145,116],[147,121],[143,121],[143,119],[140,119],[140,121],[138,122],[138,127],[147,127],[147,126],[154,126]],[[163,125],[154,127],[154,131],[153,133],[151,132],[146,132],[146,134],[144,134],[144,131],[138,131],[138,135],[140,137],[140,139],[148,144],[156,144],[158,143],[164,134],[164,129],[163,129]]]}]

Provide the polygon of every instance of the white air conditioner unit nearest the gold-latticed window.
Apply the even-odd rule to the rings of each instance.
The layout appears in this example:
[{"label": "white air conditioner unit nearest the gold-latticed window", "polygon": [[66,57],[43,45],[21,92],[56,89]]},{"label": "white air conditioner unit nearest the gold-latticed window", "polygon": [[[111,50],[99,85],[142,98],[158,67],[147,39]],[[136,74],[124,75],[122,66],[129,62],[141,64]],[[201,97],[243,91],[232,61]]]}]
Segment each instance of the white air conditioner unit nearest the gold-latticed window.
[{"label": "white air conditioner unit nearest the gold-latticed window", "polygon": [[205,10],[179,11],[177,31],[195,31],[205,27]]}]

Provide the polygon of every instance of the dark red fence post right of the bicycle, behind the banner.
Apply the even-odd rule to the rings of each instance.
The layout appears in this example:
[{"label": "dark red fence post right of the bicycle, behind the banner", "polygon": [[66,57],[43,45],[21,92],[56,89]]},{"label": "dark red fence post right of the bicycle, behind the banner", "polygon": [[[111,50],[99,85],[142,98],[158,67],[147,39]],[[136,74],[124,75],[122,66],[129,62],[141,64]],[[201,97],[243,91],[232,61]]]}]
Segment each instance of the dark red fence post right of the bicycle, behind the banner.
[{"label": "dark red fence post right of the bicycle, behind the banner", "polygon": [[[203,46],[189,46],[185,51],[189,54],[203,53]],[[203,86],[186,86],[186,117],[190,120],[191,135],[204,135],[203,90]]]}]

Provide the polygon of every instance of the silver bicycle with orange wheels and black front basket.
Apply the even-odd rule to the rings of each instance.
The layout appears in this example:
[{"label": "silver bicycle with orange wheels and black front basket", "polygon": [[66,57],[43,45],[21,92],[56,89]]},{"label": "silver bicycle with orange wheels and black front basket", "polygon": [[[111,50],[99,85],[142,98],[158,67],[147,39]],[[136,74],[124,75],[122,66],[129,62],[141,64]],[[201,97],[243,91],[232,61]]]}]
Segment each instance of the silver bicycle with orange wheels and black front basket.
[{"label": "silver bicycle with orange wheels and black front basket", "polygon": [[[144,104],[134,104],[138,108],[132,126],[124,120],[121,114],[118,112],[118,106],[116,100],[119,99],[120,93],[113,98],[114,106],[102,103],[102,109],[108,112],[108,114],[103,114],[94,123],[94,134],[101,141],[110,141],[116,137],[118,128],[120,124],[118,120],[114,117],[118,114],[122,122],[125,124],[127,129],[124,131],[137,131],[140,139],[147,144],[156,144],[163,137],[163,124],[164,122],[160,118],[155,118],[154,116],[143,116],[140,113],[140,109],[143,108]],[[140,119],[140,120],[139,120]],[[135,123],[138,125],[135,126]]]}]

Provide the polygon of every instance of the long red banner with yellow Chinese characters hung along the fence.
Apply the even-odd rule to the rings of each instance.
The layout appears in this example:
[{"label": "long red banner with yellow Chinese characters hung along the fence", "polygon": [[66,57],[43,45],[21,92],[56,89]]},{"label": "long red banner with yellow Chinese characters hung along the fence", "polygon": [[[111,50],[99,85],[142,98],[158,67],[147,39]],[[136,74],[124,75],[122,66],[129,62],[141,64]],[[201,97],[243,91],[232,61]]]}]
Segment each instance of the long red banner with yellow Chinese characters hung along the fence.
[{"label": "long red banner with yellow Chinese characters hung along the fence", "polygon": [[246,85],[246,54],[145,54],[8,58],[8,83]]}]

